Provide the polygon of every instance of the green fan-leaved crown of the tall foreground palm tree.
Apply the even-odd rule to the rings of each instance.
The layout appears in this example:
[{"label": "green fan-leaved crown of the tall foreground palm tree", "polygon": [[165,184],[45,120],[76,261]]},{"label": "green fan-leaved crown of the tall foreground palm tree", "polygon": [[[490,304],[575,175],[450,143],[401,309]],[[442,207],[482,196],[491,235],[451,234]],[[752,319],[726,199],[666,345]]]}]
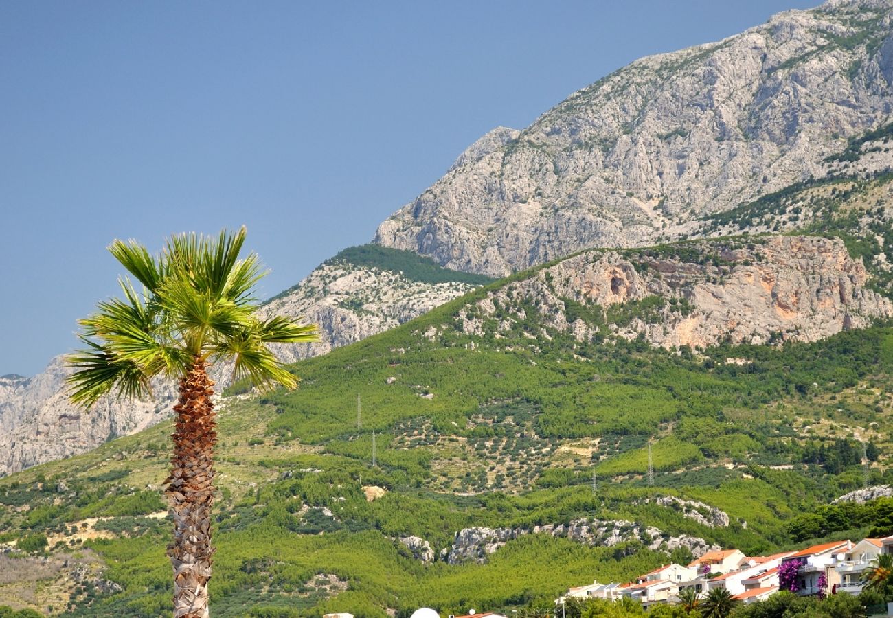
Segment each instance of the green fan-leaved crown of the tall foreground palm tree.
[{"label": "green fan-leaved crown of the tall foreground palm tree", "polygon": [[71,400],[89,406],[112,391],[144,397],[154,376],[183,376],[196,359],[234,359],[234,379],[294,388],[296,377],[268,344],[310,341],[314,329],[281,316],[255,316],[252,288],[266,273],[257,255],[238,258],[245,233],[182,234],[154,257],[136,241],[115,240],[109,251],[143,290],[121,279],[124,297],[99,303],[79,321],[88,348],[68,358],[75,367]]}]

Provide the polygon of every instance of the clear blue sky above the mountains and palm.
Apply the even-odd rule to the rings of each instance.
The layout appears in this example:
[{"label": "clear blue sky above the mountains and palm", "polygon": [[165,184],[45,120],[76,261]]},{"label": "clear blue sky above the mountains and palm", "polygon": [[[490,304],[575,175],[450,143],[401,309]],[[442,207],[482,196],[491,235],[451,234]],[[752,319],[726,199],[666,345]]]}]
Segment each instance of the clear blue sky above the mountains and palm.
[{"label": "clear blue sky above the mountains and palm", "polygon": [[246,224],[294,285],[499,125],[818,0],[0,3],[0,374],[77,345],[105,246]]}]

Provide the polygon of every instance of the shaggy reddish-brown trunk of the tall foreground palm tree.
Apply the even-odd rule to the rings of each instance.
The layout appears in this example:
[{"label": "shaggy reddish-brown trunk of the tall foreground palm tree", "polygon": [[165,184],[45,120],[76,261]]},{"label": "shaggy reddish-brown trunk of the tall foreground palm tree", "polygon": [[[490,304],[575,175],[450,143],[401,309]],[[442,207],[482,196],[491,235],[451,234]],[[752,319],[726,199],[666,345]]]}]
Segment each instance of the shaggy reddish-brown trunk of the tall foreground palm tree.
[{"label": "shaggy reddish-brown trunk of the tall foreground palm tree", "polygon": [[213,381],[196,358],[179,380],[179,402],[173,438],[171,476],[164,494],[171,505],[174,539],[167,555],[173,565],[174,618],[208,618],[211,547],[213,447],[217,423],[211,397]]}]

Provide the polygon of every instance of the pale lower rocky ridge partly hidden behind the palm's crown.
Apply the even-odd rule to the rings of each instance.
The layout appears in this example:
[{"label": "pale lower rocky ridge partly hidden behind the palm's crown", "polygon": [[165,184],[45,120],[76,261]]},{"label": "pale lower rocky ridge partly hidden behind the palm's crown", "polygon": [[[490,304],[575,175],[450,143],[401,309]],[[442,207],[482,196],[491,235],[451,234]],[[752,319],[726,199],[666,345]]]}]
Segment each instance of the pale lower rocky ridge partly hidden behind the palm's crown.
[{"label": "pale lower rocky ridge partly hidden behind the palm's crown", "polygon": [[[319,326],[319,343],[277,347],[280,359],[290,363],[394,328],[472,288],[467,283],[421,283],[400,272],[350,263],[325,263],[264,305],[261,313],[303,317]],[[171,416],[174,384],[157,382],[154,401],[104,397],[87,413],[65,397],[68,373],[58,356],[33,378],[0,378],[0,476],[83,453]],[[228,367],[213,370],[218,388],[229,384],[229,376]]]}]

